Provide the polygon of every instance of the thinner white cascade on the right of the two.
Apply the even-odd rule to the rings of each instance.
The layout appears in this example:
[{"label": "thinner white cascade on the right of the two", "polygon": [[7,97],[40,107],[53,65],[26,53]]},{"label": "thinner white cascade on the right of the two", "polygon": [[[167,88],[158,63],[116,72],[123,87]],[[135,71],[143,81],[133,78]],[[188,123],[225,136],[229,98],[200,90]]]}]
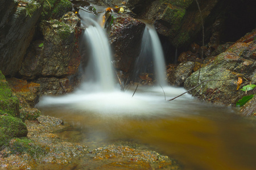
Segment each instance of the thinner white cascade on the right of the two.
[{"label": "thinner white cascade on the right of the two", "polygon": [[[154,68],[154,71],[150,70]],[[156,83],[160,86],[167,86],[166,83],[166,64],[164,61],[164,54],[158,33],[155,28],[146,24],[143,32],[141,54],[135,63],[137,69],[135,76],[138,77],[141,73],[155,74]]]}]

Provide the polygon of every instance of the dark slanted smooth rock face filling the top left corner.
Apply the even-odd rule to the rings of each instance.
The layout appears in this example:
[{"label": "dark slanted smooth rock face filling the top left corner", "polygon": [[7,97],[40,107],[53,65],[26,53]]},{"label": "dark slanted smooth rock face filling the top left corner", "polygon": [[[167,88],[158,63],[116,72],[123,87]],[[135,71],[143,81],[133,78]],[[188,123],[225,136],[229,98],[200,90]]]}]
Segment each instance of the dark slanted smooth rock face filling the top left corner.
[{"label": "dark slanted smooth rock face filling the top left corner", "polygon": [[8,76],[14,76],[22,65],[44,1],[23,2],[26,7],[18,6],[14,0],[0,2],[0,70]]}]

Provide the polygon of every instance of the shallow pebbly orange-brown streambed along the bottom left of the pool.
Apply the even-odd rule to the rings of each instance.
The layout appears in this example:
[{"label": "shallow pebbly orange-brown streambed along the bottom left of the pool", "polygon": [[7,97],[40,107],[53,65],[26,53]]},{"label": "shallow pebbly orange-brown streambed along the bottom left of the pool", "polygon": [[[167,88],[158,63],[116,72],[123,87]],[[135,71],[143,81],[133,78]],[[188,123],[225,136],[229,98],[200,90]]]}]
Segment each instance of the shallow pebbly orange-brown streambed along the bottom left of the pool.
[{"label": "shallow pebbly orange-brown streambed along the bottom left of the pool", "polygon": [[[180,169],[175,160],[135,143],[118,143],[88,150],[68,142],[56,131],[68,128],[59,118],[39,116],[26,120],[27,137],[13,138],[2,146],[4,169]],[[124,145],[126,144],[126,145]],[[134,147],[135,146],[135,147]]]}]

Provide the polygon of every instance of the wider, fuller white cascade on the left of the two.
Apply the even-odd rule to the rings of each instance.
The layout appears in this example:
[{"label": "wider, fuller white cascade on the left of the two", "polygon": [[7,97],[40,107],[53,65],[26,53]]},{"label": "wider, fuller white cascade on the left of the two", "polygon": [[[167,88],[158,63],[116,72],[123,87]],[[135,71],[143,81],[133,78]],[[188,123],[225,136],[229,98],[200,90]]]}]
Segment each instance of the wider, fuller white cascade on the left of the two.
[{"label": "wider, fuller white cascade on the left of the two", "polygon": [[82,24],[86,27],[83,39],[89,52],[83,87],[87,89],[86,86],[92,84],[90,91],[113,91],[115,79],[108,38],[100,24],[88,17],[88,12],[81,12],[80,15],[83,18]]}]

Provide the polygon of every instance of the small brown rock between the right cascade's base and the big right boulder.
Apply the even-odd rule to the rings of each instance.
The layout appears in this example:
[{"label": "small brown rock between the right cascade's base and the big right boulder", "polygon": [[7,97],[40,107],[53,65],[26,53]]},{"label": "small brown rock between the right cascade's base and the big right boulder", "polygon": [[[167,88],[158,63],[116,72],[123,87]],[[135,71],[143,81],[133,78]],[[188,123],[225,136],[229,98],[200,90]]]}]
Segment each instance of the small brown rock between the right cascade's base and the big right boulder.
[{"label": "small brown rock between the right cascade's base and the big right boulder", "polygon": [[188,61],[184,63],[180,63],[177,66],[177,69],[174,71],[174,76],[168,82],[174,86],[182,86],[191,73],[193,68],[195,67],[195,62]]}]

